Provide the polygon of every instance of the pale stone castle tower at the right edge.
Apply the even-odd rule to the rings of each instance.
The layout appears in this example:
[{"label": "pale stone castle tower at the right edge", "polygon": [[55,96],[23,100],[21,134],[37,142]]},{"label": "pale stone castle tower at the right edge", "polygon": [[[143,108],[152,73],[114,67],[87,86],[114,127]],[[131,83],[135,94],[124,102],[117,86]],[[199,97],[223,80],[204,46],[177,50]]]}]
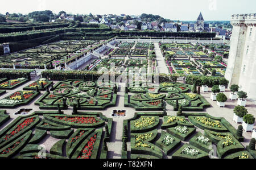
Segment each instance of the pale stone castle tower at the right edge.
[{"label": "pale stone castle tower at the right edge", "polygon": [[233,26],[225,78],[256,99],[256,14],[232,15]]}]

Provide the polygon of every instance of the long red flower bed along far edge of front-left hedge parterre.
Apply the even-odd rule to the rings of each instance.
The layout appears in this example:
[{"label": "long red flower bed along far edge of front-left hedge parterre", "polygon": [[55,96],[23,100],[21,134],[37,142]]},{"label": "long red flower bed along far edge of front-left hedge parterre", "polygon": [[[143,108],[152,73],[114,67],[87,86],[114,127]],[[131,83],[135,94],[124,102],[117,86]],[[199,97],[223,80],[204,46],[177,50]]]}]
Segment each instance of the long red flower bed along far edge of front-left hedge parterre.
[{"label": "long red flower bed along far edge of front-left hedge parterre", "polygon": [[97,123],[98,121],[94,117],[55,117],[64,122],[80,123],[80,124],[92,124]]}]

